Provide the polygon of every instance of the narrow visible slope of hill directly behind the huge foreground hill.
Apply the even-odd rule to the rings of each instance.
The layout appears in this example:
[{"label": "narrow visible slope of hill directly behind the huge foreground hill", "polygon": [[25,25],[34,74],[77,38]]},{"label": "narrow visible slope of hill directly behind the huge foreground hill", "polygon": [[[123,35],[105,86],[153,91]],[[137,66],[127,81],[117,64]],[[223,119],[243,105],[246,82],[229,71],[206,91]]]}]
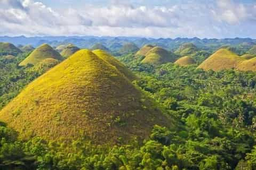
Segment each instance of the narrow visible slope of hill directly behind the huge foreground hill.
[{"label": "narrow visible slope of hill directly behind the huge foreground hill", "polygon": [[137,79],[136,76],[131,72],[131,70],[127,69],[121,62],[116,60],[115,57],[111,56],[107,52],[97,49],[93,50],[93,53],[97,55],[99,58],[104,60],[105,62],[108,62],[109,64],[113,65],[116,67],[116,69],[123,73],[125,77],[127,77],[129,80],[135,80]]}]

